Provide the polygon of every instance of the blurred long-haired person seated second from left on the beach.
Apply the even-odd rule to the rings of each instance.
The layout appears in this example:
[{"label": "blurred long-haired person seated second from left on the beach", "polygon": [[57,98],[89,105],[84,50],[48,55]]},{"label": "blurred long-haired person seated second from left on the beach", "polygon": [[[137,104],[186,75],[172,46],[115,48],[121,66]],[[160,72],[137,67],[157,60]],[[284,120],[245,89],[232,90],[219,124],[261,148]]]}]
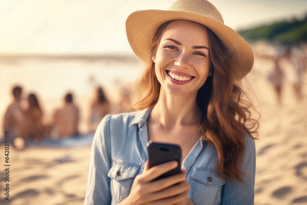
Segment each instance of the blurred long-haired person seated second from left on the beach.
[{"label": "blurred long-haired person seated second from left on the beach", "polygon": [[24,112],[24,122],[25,132],[22,133],[24,138],[39,138],[39,133],[45,129],[42,119],[43,112],[38,103],[37,97],[35,94],[30,94],[28,98],[29,106]]}]

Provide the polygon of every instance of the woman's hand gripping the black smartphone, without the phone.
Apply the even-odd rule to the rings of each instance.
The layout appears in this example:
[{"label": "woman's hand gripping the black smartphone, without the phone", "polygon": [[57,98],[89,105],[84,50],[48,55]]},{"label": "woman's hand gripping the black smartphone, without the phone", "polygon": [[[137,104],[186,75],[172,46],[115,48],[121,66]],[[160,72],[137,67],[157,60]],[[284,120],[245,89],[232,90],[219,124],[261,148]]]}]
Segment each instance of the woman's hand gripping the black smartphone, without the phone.
[{"label": "woman's hand gripping the black smartphone, without the phone", "polygon": [[153,180],[177,168],[177,166],[177,161],[173,161],[149,168],[149,161],[147,160],[143,173],[135,177],[130,194],[119,205],[148,204],[151,202],[157,204],[181,204],[185,202],[187,205],[192,205],[192,202],[187,198],[190,186],[185,177],[185,169],[181,169],[179,174]]}]

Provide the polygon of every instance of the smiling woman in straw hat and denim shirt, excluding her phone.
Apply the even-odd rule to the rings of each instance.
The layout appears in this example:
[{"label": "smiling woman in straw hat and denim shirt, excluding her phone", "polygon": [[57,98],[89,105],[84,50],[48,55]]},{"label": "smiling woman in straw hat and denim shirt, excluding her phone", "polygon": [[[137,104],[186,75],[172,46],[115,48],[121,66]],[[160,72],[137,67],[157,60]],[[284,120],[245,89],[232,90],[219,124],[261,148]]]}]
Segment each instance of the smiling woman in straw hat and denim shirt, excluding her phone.
[{"label": "smiling woman in straw hat and denim shirt, excluding her phone", "polygon": [[[258,121],[239,87],[250,46],[205,0],[136,11],[126,32],[148,65],[135,91],[140,111],[99,124],[84,204],[254,204]],[[177,164],[149,168],[149,140],[181,146],[181,174],[152,181]]]}]

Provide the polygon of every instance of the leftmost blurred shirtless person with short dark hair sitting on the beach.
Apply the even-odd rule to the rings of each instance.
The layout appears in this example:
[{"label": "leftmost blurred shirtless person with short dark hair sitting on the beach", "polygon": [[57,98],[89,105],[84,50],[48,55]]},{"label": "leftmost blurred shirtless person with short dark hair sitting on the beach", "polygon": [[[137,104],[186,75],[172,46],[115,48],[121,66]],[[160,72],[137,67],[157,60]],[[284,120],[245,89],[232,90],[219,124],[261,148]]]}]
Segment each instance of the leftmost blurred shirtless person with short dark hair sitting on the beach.
[{"label": "leftmost blurred shirtless person with short dark hair sitting on the beach", "polygon": [[22,88],[20,86],[15,86],[12,91],[14,101],[6,109],[3,128],[4,131],[9,131],[11,138],[21,136],[24,132],[22,122],[24,121],[24,111],[21,108],[21,104],[24,100],[21,98]]}]

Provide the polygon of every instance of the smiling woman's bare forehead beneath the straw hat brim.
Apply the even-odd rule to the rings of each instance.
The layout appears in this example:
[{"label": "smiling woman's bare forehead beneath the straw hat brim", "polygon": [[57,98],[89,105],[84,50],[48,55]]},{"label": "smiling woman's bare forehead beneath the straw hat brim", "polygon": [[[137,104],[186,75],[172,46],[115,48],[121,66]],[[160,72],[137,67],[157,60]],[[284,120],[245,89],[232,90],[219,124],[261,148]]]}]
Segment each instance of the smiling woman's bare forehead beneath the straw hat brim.
[{"label": "smiling woman's bare forehead beneath the straw hat brim", "polygon": [[164,28],[161,34],[161,42],[165,38],[172,38],[193,45],[196,45],[195,43],[208,45],[209,42],[207,28],[204,25],[182,19],[174,20]]}]

